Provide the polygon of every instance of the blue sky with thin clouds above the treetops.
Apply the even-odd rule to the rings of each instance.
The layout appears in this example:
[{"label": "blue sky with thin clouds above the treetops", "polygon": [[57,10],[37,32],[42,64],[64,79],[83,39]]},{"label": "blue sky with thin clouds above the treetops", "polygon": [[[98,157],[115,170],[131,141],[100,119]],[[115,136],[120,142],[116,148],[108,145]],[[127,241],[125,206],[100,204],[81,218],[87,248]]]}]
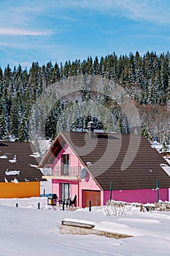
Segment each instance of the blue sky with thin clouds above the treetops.
[{"label": "blue sky with thin clouds above the treetops", "polygon": [[169,0],[0,0],[0,66],[166,53],[169,13]]}]

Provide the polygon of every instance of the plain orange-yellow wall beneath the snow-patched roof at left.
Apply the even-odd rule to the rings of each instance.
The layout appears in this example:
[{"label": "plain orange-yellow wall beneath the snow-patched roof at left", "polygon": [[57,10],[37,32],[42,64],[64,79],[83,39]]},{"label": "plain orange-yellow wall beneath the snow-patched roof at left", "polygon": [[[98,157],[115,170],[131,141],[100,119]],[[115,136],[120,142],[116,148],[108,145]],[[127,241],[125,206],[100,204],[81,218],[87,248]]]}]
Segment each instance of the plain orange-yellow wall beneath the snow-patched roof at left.
[{"label": "plain orange-yellow wall beneath the snow-patched roof at left", "polygon": [[23,197],[39,197],[40,196],[40,182],[29,181],[19,182],[18,184],[12,182],[0,183],[0,197],[1,198],[23,198]]}]

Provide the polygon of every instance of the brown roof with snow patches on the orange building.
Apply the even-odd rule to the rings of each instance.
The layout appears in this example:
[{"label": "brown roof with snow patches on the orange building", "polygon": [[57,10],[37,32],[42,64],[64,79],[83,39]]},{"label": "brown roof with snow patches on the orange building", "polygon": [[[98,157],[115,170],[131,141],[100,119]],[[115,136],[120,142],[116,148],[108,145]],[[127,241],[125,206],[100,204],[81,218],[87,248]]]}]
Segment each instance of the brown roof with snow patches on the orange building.
[{"label": "brown roof with snow patches on the orange building", "polygon": [[[29,142],[0,141],[0,182],[42,181],[39,155]],[[38,162],[37,162],[38,161]]]}]

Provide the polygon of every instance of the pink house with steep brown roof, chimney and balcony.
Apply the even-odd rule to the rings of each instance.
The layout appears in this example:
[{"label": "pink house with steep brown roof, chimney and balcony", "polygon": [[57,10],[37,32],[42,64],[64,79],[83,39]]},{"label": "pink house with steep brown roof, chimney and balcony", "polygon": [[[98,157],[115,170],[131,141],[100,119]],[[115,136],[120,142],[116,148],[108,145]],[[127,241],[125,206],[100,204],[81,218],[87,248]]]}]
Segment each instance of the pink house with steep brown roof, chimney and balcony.
[{"label": "pink house with steep brown roof, chimney and balcony", "polygon": [[158,195],[169,200],[165,164],[143,136],[95,133],[89,125],[88,132],[60,132],[39,167],[58,198],[77,195],[77,206],[88,207],[89,200],[92,206],[107,203],[111,181],[113,200],[154,203]]}]

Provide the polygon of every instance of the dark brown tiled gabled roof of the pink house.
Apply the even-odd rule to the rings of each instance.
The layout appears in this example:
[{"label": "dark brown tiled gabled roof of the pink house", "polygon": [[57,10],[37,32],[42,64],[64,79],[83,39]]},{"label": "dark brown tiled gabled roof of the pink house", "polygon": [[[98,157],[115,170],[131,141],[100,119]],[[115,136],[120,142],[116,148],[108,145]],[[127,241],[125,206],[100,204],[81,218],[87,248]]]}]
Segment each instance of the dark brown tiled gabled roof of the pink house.
[{"label": "dark brown tiled gabled roof of the pink house", "polygon": [[102,190],[109,190],[110,181],[115,190],[153,189],[156,180],[160,188],[170,187],[170,177],[161,167],[166,160],[143,136],[96,133],[89,138],[87,132],[60,132],[39,166],[53,163],[65,143]]}]

